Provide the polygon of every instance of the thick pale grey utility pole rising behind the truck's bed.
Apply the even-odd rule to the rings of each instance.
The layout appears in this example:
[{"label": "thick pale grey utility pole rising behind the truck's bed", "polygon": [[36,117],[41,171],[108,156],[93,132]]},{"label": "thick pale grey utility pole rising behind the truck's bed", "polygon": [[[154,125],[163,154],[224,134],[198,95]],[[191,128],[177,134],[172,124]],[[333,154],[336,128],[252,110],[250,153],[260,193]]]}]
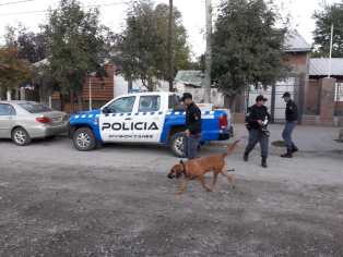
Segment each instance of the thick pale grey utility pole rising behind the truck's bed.
[{"label": "thick pale grey utility pole rising behind the truck's bed", "polygon": [[205,53],[205,88],[203,99],[211,102],[211,70],[212,70],[212,4],[206,1],[206,53]]}]

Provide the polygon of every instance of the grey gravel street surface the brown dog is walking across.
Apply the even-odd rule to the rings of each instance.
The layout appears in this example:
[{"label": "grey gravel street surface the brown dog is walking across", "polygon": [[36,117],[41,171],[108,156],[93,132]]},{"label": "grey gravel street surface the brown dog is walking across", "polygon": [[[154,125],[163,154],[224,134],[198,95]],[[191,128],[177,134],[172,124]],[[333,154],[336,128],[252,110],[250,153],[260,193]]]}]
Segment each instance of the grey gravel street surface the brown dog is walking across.
[{"label": "grey gravel street surface the brown dog is walking across", "polygon": [[163,147],[1,140],[0,256],[343,256],[342,155],[273,148],[264,170],[243,147],[227,158],[235,189],[218,178],[176,197]]}]

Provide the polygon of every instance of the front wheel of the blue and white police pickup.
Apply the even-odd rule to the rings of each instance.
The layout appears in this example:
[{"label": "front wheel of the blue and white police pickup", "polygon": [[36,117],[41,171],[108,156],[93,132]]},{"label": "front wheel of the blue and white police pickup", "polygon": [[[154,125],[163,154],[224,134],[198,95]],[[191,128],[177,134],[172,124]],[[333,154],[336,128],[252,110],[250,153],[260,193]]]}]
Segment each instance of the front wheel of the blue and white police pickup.
[{"label": "front wheel of the blue and white police pickup", "polygon": [[73,144],[78,150],[87,151],[96,147],[95,136],[88,127],[81,127],[74,132]]}]

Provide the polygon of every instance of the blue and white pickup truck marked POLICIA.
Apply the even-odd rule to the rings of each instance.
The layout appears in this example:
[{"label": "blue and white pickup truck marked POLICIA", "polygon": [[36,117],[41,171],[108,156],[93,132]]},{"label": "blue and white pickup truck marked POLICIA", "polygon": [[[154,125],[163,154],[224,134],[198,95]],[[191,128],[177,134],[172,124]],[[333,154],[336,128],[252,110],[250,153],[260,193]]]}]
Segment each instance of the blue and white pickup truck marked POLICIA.
[{"label": "blue and white pickup truck marked POLICIA", "polygon": [[[174,93],[138,93],[115,98],[98,110],[70,117],[70,136],[78,150],[103,143],[161,144],[184,156],[185,109]],[[225,110],[202,110],[201,143],[230,136]]]}]

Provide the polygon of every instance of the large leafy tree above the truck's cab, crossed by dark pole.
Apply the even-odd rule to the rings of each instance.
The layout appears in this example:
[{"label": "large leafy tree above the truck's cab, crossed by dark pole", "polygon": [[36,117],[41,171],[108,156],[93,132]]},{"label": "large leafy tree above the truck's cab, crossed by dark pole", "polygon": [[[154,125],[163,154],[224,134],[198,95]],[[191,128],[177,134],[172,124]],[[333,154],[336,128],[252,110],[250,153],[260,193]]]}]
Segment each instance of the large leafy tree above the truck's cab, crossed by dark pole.
[{"label": "large leafy tree above the truck's cab, crossed by dark pole", "polygon": [[[186,29],[181,24],[181,14],[173,12],[173,66],[177,71],[189,64],[189,47]],[[141,79],[149,90],[154,90],[156,79],[168,79],[169,56],[167,4],[141,0],[133,3],[128,12],[127,26],[116,36],[116,61],[122,66],[128,81]]]}]

